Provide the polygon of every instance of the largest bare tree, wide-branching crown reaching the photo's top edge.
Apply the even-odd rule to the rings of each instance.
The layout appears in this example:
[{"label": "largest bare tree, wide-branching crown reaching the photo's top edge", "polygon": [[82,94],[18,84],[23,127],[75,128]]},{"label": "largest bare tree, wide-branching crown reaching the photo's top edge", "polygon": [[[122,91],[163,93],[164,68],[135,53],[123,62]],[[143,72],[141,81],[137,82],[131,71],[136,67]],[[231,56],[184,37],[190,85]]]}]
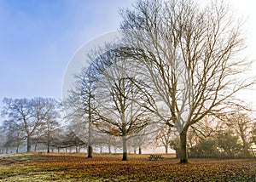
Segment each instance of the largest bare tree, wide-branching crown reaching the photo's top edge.
[{"label": "largest bare tree, wide-branching crown reaching the photo's top edge", "polygon": [[193,0],[139,0],[121,12],[124,35],[119,52],[141,63],[168,112],[148,102],[167,125],[177,128],[180,162],[188,162],[187,132],[207,114],[222,111],[254,80],[245,74],[251,62],[241,59],[241,22],[229,6],[198,6]]}]

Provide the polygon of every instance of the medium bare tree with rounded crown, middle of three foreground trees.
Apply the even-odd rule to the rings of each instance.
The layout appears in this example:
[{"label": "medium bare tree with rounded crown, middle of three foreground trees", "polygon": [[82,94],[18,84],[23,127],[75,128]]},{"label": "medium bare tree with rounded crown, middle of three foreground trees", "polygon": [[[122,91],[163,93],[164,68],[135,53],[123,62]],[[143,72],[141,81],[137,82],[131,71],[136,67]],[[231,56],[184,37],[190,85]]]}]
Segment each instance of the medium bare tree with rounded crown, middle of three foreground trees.
[{"label": "medium bare tree with rounded crown, middle of three foreground trees", "polygon": [[[143,95],[134,84],[137,71],[129,60],[113,56],[112,51],[100,55],[91,65],[96,78],[96,128],[104,133],[122,137],[123,161],[127,160],[127,140],[145,128],[150,114],[134,100]],[[143,100],[142,100],[143,101]]]}]

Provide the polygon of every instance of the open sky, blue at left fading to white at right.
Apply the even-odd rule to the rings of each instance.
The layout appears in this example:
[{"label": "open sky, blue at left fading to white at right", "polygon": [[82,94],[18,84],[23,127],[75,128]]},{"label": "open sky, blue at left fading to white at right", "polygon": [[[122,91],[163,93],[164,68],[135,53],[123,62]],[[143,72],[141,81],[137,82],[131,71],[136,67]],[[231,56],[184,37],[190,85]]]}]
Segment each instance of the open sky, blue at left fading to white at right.
[{"label": "open sky, blue at left fading to white at right", "polygon": [[[254,59],[255,1],[224,1],[247,20],[247,50]],[[135,2],[0,0],[0,110],[5,97],[61,99],[62,79],[73,54],[93,38],[117,30],[119,8],[131,8]]]}]

